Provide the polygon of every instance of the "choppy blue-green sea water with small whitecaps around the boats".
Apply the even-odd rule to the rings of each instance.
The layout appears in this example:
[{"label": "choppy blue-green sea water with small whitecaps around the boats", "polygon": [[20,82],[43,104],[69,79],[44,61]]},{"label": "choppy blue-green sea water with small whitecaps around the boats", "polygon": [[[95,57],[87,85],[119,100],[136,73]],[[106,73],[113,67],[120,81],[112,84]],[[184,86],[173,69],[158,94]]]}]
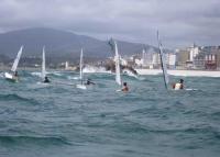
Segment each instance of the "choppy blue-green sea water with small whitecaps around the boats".
[{"label": "choppy blue-green sea water with small whitecaps around the boats", "polygon": [[[20,71],[0,78],[0,157],[218,157],[220,78],[184,78],[196,91],[166,91],[162,76],[86,75],[96,86],[75,87],[78,74]],[[172,77],[172,81],[179,78]]]}]

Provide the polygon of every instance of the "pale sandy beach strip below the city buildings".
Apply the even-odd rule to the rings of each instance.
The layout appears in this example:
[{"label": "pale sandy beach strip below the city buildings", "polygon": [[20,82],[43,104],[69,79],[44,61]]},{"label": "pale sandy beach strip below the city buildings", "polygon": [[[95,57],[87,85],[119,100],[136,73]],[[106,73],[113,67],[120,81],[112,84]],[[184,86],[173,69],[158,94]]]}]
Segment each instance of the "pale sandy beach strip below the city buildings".
[{"label": "pale sandy beach strip below the city buildings", "polygon": [[[141,76],[147,75],[162,75],[162,69],[135,69]],[[180,77],[220,77],[220,71],[209,71],[209,70],[167,70],[170,76]]]}]

